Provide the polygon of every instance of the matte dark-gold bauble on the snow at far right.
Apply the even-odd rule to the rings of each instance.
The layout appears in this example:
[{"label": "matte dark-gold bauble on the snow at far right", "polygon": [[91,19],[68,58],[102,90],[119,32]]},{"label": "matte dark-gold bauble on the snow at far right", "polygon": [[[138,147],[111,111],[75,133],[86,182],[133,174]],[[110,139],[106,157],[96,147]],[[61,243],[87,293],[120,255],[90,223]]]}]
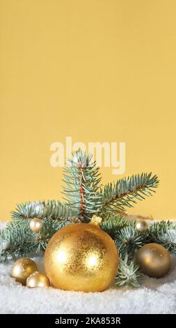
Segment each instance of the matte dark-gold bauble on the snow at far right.
[{"label": "matte dark-gold bauble on the snow at far right", "polygon": [[147,276],[161,278],[170,269],[170,254],[159,244],[145,244],[137,251],[136,262]]}]

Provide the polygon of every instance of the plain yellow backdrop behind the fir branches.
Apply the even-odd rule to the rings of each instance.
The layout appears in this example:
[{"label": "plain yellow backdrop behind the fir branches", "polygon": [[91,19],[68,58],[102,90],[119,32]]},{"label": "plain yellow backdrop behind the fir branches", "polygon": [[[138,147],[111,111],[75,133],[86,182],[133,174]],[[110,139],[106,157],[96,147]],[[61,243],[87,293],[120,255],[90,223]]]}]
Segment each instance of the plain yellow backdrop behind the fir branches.
[{"label": "plain yellow backdrop behind the fir branches", "polygon": [[131,212],[175,218],[176,1],[0,4],[0,218],[17,202],[61,196],[49,147],[66,136],[126,142],[125,174],[161,180]]}]

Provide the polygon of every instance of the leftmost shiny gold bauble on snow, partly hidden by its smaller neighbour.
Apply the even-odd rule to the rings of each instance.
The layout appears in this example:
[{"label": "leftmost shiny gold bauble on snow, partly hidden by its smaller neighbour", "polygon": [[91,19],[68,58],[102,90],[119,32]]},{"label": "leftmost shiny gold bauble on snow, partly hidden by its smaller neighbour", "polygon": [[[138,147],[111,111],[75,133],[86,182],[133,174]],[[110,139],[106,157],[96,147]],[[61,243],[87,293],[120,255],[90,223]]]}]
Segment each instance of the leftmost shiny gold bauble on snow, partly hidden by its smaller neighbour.
[{"label": "leftmost shiny gold bauble on snow, partly hidden by its smaller neighbour", "polygon": [[22,285],[26,285],[26,278],[37,270],[38,267],[31,258],[19,258],[12,266],[11,276]]}]

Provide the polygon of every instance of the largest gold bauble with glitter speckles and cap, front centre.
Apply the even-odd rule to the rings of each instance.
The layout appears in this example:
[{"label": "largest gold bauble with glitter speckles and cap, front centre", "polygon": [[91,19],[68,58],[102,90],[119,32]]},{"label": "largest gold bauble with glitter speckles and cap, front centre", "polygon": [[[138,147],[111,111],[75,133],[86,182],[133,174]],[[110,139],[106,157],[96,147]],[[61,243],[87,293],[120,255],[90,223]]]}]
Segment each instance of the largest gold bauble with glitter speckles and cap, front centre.
[{"label": "largest gold bauble with glitter speckles and cap, front centre", "polygon": [[118,271],[118,250],[100,230],[101,218],[68,225],[54,234],[45,251],[45,271],[54,287],[102,292]]}]

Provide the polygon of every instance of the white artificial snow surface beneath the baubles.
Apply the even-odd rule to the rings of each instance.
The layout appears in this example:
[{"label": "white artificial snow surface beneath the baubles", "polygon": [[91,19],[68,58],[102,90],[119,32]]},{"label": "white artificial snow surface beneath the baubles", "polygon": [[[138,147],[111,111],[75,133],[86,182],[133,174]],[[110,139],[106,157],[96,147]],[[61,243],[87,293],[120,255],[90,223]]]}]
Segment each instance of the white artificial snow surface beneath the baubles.
[{"label": "white artificial snow surface beneath the baubles", "polygon": [[[33,260],[44,271],[43,257]],[[176,313],[176,257],[172,262],[166,277],[146,277],[141,288],[95,293],[27,288],[10,277],[13,262],[0,263],[0,313]]]}]

